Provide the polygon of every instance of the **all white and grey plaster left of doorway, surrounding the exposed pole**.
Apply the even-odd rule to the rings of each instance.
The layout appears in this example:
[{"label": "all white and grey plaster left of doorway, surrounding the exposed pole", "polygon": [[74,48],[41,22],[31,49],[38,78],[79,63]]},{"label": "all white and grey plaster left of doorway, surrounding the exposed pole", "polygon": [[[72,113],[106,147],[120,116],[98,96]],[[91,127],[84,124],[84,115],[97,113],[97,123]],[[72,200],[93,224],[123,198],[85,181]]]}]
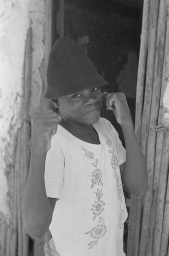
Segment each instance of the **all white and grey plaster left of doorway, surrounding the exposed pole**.
[{"label": "all white and grey plaster left of doorway, surrounding the exposed pole", "polygon": [[[22,125],[26,36],[32,29],[31,111],[40,110],[44,60],[45,0],[0,0],[0,213],[10,219],[8,173],[14,166],[17,132]],[[0,216],[1,217],[1,216]],[[1,219],[1,218],[0,218]]]}]

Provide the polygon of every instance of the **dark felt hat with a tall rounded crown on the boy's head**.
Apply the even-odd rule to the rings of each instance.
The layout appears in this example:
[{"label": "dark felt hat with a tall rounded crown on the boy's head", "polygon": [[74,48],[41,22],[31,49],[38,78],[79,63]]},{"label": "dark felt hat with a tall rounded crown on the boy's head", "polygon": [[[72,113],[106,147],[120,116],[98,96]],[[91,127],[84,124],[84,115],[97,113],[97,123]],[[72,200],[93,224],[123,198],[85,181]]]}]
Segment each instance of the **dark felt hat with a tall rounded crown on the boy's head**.
[{"label": "dark felt hat with a tall rounded crown on the boy's head", "polygon": [[82,90],[105,86],[92,61],[77,42],[59,38],[51,49],[45,98],[55,99]]}]

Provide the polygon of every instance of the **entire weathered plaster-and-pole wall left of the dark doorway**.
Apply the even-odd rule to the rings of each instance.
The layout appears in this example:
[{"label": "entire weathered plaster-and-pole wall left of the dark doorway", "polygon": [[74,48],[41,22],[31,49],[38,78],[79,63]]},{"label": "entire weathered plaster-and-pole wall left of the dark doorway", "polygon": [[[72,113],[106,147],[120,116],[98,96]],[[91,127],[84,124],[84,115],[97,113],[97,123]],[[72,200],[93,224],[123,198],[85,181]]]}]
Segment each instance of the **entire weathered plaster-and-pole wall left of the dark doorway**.
[{"label": "entire weathered plaster-and-pole wall left of the dark doorway", "polygon": [[[22,198],[29,170],[31,116],[47,109],[45,0],[1,1],[0,9],[0,254],[27,255]],[[51,3],[50,3],[51,4]],[[50,35],[50,29],[49,29]],[[48,39],[46,40],[46,38]],[[17,248],[17,249],[16,249]],[[17,252],[18,250],[18,252]],[[17,254],[16,254],[17,253]]]}]

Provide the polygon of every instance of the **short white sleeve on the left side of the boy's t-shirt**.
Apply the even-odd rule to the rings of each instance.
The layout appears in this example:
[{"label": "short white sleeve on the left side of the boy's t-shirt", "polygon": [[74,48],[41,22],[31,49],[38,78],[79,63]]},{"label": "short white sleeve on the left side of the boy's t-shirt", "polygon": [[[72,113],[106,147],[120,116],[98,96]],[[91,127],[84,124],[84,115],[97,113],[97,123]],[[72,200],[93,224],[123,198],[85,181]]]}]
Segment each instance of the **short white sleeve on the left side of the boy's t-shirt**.
[{"label": "short white sleeve on the left side of the boy's t-shirt", "polygon": [[45,188],[47,197],[58,198],[63,188],[64,154],[61,148],[51,140],[50,150],[45,162]]}]

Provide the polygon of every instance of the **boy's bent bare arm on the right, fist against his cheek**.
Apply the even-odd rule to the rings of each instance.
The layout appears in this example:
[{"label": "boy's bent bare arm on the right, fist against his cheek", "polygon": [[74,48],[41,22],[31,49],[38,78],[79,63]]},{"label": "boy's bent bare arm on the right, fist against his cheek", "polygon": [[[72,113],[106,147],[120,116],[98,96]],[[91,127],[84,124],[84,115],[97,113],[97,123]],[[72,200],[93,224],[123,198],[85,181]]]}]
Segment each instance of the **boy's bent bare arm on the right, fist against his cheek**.
[{"label": "boy's bent bare arm on the right, fist against his cheek", "polygon": [[106,108],[114,112],[125,139],[126,162],[120,165],[123,183],[132,194],[143,196],[148,187],[147,164],[135,135],[126,97],[123,93],[103,95]]}]

